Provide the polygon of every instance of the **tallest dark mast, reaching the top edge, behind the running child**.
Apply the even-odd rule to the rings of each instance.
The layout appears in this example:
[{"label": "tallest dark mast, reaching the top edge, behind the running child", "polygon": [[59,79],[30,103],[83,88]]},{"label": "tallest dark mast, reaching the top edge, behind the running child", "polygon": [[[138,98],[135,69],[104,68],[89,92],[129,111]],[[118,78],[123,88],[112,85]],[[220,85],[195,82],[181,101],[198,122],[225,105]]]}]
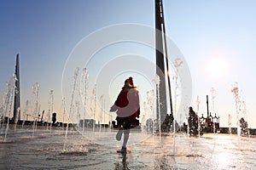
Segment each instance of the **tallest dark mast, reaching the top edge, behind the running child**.
[{"label": "tallest dark mast, reaching the top edge, behind the running child", "polygon": [[[159,95],[157,94],[157,100],[160,100],[160,107],[157,103],[157,119],[164,122],[167,116],[167,102],[166,102],[166,72],[168,71],[168,59],[167,59],[167,49],[166,49],[166,28],[164,20],[164,11],[162,0],[155,0],[155,55],[156,55],[156,74],[160,77],[159,84]],[[165,50],[164,50],[165,49]],[[165,52],[166,56],[163,54]],[[165,67],[166,59],[166,67]],[[166,71],[167,70],[167,71]],[[171,82],[170,77],[167,75],[168,88],[169,88],[169,99],[171,105],[171,115],[172,113],[172,95],[171,95]]]}]

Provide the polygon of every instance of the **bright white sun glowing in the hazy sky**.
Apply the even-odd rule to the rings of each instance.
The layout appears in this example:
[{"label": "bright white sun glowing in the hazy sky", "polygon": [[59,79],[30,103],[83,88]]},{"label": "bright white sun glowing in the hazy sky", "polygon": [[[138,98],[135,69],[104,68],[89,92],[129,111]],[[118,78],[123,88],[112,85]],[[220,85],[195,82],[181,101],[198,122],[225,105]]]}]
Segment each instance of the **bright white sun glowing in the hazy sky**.
[{"label": "bright white sun glowing in the hazy sky", "polygon": [[224,58],[214,57],[207,60],[207,75],[213,78],[226,76],[228,65]]}]

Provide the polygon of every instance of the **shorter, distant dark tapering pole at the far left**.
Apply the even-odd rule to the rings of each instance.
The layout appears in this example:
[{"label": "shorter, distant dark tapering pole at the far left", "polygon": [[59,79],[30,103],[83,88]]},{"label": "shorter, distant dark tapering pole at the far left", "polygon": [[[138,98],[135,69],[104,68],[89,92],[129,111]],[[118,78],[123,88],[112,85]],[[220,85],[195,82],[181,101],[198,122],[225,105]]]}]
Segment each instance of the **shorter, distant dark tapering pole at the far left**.
[{"label": "shorter, distant dark tapering pole at the far left", "polygon": [[14,105],[14,120],[20,120],[20,59],[19,54],[16,55],[15,65],[15,105]]}]

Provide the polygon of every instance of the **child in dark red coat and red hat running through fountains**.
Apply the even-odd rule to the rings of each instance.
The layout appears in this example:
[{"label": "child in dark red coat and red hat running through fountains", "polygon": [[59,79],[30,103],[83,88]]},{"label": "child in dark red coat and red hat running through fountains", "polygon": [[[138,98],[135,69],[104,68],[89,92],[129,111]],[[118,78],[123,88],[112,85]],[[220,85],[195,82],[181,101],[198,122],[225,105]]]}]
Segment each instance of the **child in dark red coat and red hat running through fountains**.
[{"label": "child in dark red coat and red hat running through fountains", "polygon": [[139,124],[137,118],[140,115],[138,90],[133,84],[132,77],[125,80],[125,85],[115,100],[114,105],[110,108],[110,111],[116,111],[117,114],[116,121],[119,131],[116,134],[116,139],[120,140],[122,133],[124,133],[124,142],[120,153],[125,154],[131,125]]}]

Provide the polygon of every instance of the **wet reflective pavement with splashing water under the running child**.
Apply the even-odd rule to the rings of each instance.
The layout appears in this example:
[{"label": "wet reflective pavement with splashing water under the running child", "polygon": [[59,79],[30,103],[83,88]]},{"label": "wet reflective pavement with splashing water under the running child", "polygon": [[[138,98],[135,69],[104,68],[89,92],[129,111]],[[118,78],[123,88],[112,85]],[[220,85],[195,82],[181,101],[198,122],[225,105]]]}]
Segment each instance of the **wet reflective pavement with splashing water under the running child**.
[{"label": "wet reflective pavement with splashing water under the running child", "polygon": [[[256,169],[256,138],[205,133],[131,133],[128,152],[114,130],[81,133],[65,129],[0,133],[0,169]],[[64,145],[65,143],[65,145]]]}]

